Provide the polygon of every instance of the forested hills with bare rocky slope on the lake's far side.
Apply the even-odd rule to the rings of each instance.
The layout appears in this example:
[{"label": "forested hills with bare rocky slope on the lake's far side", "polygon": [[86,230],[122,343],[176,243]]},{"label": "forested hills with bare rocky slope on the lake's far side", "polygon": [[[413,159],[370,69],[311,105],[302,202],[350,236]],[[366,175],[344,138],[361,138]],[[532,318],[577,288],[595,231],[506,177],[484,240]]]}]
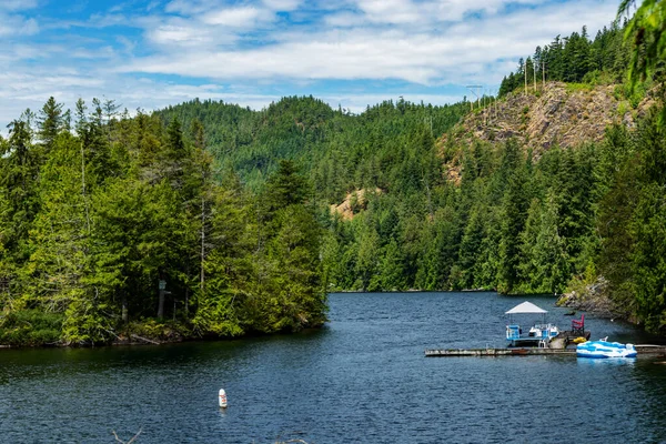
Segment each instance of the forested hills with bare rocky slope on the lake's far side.
[{"label": "forested hills with bare rocky slope on the lake's far side", "polygon": [[[584,28],[536,48],[505,78],[501,100],[473,113],[470,103],[401,100],[352,115],[290,98],[238,119],[242,134],[228,134],[216,159],[252,188],[276,159],[293,159],[320,211],[345,209],[330,221],[320,214],[331,290],[562,293],[607,279],[615,310],[658,330],[665,279],[648,268],[647,289],[638,276],[646,254],[659,258],[654,246],[639,251],[644,236],[660,233],[658,224],[645,232],[633,205],[663,185],[662,170],[647,173],[645,164],[663,150],[654,110],[662,95],[654,77],[627,80],[627,26],[594,39]],[[160,114],[186,122],[218,113],[225,122],[226,108],[191,102]],[[619,210],[616,199],[629,189]]]}]

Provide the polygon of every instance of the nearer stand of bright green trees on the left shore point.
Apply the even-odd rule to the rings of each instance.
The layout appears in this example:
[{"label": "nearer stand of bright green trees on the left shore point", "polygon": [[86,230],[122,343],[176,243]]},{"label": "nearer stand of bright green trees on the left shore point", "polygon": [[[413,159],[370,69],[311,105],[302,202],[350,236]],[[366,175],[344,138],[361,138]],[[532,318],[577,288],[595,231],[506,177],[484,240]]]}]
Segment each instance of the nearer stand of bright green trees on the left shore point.
[{"label": "nearer stand of bright green trees on the left shore point", "polygon": [[[73,121],[74,128],[71,128]],[[325,320],[312,191],[215,171],[201,123],[52,98],[0,140],[0,343],[296,331]],[[169,321],[169,322],[168,322]]]}]

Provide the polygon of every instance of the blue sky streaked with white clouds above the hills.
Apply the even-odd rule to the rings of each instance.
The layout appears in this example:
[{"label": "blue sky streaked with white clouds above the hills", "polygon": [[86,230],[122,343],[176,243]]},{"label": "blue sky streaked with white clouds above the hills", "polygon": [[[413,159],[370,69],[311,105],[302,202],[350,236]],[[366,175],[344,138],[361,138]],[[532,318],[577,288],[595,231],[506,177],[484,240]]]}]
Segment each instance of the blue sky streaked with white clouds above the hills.
[{"label": "blue sky streaked with white clouds above the hills", "polygon": [[194,98],[352,112],[497,90],[518,59],[615,18],[618,0],[0,0],[0,130],[49,97],[130,112]]}]

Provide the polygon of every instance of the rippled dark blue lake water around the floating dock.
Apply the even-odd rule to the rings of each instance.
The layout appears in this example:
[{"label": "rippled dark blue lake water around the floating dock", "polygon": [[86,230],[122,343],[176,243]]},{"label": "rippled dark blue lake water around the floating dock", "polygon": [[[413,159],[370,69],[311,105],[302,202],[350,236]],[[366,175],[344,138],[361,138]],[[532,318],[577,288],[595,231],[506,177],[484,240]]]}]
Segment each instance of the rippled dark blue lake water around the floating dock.
[{"label": "rippled dark blue lake water around the floating dock", "polygon": [[[0,442],[113,443],[139,430],[137,443],[666,442],[664,359],[424,357],[504,346],[503,313],[524,300],[332,294],[327,326],[297,335],[0,351]],[[553,297],[528,300],[569,325]],[[655,341],[585,321],[595,339]]]}]

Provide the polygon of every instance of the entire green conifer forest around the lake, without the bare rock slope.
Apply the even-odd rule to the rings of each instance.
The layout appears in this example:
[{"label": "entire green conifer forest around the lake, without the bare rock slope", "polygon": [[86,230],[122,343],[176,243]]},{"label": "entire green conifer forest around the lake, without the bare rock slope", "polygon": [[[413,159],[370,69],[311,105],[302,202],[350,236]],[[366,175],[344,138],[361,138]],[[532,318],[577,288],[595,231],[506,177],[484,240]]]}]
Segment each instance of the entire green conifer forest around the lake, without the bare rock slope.
[{"label": "entire green conifer forest around the lake, without the bare rock slope", "polygon": [[[526,70],[619,82],[633,107],[663,98],[663,63],[635,48],[663,58],[660,28],[636,17],[537,48],[500,94],[521,93]],[[534,155],[455,138],[465,101],[353,114],[312,97],[261,111],[194,100],[129,115],[51,98],[0,139],[0,343],[297,331],[325,322],[330,291],[562,293],[599,280],[619,314],[663,332],[659,107],[602,142]],[[343,201],[349,214],[331,210]]]}]

